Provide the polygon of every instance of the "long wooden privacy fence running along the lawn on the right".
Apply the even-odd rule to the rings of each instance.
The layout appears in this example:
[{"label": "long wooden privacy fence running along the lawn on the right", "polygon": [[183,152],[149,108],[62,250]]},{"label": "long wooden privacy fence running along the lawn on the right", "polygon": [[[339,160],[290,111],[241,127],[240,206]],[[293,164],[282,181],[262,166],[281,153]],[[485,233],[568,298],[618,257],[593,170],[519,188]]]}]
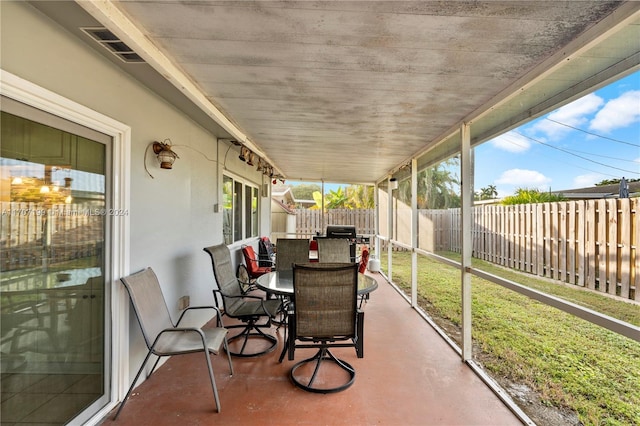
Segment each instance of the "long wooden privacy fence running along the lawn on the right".
[{"label": "long wooden privacy fence running along the lawn on the right", "polygon": [[[640,301],[638,198],[473,209],[473,256]],[[460,209],[421,210],[419,241],[460,252]]]}]

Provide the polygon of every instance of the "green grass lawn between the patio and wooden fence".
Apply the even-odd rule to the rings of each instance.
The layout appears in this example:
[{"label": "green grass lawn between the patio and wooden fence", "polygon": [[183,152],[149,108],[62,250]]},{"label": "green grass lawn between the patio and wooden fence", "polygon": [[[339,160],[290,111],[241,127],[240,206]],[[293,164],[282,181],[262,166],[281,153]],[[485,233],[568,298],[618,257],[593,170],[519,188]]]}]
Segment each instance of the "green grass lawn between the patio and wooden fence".
[{"label": "green grass lawn between the patio and wooden fence", "polygon": [[[437,322],[459,327],[459,270],[418,259],[420,306]],[[637,304],[473,262],[487,272],[640,325]],[[408,290],[410,278],[411,255],[394,252],[394,282]],[[640,343],[477,277],[472,279],[472,312],[474,358],[496,379],[528,386],[544,404],[575,412],[585,425],[640,424]]]}]

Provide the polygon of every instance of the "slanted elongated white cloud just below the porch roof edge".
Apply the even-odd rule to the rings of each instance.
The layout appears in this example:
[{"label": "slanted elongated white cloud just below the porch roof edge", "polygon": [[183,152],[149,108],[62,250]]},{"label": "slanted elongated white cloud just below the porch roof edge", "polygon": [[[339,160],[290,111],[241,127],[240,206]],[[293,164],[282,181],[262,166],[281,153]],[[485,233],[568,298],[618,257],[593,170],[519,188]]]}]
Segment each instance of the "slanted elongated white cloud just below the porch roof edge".
[{"label": "slanted elongated white cloud just below the porch roof edge", "polygon": [[[604,100],[600,96],[590,93],[555,110],[548,115],[548,118],[566,124],[567,126],[580,127],[587,123],[587,116],[595,113],[603,103]],[[556,139],[571,130],[571,128],[567,126],[549,120],[540,120],[531,127],[531,130],[542,132],[547,135],[547,137]]]}]

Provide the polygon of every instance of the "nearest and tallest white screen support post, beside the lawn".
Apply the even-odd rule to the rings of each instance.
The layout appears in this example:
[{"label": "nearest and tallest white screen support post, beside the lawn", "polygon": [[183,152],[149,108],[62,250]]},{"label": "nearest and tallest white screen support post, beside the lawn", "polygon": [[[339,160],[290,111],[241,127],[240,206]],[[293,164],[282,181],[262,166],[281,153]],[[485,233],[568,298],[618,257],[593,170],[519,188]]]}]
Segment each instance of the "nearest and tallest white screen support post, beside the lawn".
[{"label": "nearest and tallest white screen support post, beside the lawn", "polygon": [[473,168],[471,152],[471,129],[468,123],[460,127],[461,137],[461,198],[462,198],[462,360],[473,357],[471,339],[471,207],[473,203]]}]

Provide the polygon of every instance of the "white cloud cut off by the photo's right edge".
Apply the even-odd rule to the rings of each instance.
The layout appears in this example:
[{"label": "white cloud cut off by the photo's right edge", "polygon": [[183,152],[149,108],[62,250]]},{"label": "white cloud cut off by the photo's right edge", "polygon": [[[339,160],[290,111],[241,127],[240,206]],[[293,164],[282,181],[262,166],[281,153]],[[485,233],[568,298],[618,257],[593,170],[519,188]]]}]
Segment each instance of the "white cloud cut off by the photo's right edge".
[{"label": "white cloud cut off by the photo's right edge", "polygon": [[625,92],[598,111],[589,128],[600,132],[626,127],[640,121],[640,90]]}]

